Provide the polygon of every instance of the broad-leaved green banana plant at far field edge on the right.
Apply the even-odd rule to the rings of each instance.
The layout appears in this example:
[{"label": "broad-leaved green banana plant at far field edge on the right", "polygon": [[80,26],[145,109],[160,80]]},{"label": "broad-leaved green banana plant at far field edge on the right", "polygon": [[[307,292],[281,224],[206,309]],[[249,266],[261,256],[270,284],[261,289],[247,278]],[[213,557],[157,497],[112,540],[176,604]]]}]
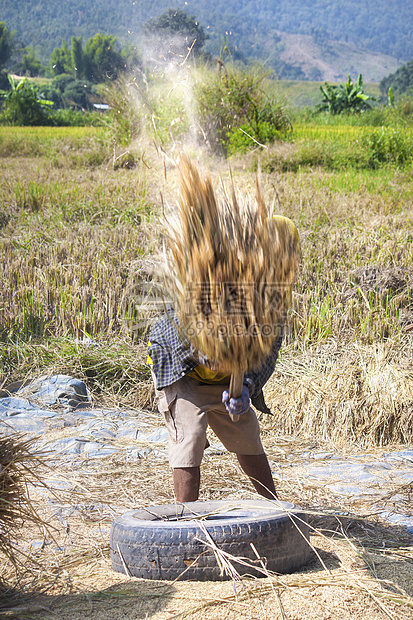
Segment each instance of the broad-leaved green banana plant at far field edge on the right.
[{"label": "broad-leaved green banana plant at far field edge on the right", "polygon": [[319,105],[319,110],[330,114],[342,114],[343,112],[364,112],[371,108],[368,101],[374,101],[374,97],[369,97],[363,90],[363,76],[360,75],[355,83],[352,82],[350,75],[345,84],[338,86],[324,83],[320,86],[323,101]]}]

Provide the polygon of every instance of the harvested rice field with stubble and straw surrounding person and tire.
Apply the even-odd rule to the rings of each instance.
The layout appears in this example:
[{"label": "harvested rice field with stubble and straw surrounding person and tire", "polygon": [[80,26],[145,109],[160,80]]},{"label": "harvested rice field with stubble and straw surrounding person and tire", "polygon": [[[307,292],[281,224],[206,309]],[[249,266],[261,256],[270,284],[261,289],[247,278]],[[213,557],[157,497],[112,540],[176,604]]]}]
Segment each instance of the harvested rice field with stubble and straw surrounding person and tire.
[{"label": "harvested rice field with stubble and straw surrounding person and tire", "polygon": [[[19,470],[22,500],[21,518],[2,523],[0,616],[411,620],[411,169],[293,169],[282,163],[293,143],[229,161],[186,147],[218,195],[232,178],[253,196],[258,170],[267,204],[300,234],[260,424],[279,498],[308,513],[314,556],[290,575],[168,583],[114,572],[109,530],[126,510],[174,501],[145,361],[178,149],[138,142],[122,166],[103,129],[59,132],[0,128],[0,439],[29,441],[0,461],[0,481],[5,465]],[[62,375],[87,387],[81,407],[30,391]],[[11,413],[16,398],[32,409]],[[200,499],[255,497],[210,443]],[[0,497],[0,519],[3,508]]]}]

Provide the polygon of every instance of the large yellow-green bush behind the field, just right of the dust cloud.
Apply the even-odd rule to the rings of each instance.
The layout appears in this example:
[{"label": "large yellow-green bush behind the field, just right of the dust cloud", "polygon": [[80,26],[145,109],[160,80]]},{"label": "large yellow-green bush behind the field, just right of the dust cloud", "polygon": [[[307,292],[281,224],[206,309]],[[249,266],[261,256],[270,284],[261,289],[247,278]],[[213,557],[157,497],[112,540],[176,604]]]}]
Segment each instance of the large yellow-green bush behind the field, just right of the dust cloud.
[{"label": "large yellow-green bush behind the field, just right of the dust cloud", "polygon": [[270,98],[264,89],[266,78],[257,68],[224,68],[196,86],[198,115],[213,150],[228,154],[245,151],[291,130],[284,103]]}]

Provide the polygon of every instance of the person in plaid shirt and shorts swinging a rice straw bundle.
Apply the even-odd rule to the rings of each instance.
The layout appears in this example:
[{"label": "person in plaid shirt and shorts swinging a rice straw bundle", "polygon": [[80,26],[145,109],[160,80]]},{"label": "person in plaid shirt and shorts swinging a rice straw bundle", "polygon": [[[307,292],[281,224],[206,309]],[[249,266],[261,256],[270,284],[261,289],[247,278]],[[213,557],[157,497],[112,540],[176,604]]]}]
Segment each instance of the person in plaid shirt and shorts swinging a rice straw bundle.
[{"label": "person in plaid shirt and shorts swinging a rice straw bundle", "polygon": [[240,206],[235,194],[218,205],[210,178],[186,158],[180,174],[179,217],[167,232],[173,308],[148,345],[176,500],[198,499],[208,426],[256,491],[275,499],[254,407],[270,413],[262,388],[281,347],[298,232],[288,218],[269,216],[258,184],[256,206]]}]

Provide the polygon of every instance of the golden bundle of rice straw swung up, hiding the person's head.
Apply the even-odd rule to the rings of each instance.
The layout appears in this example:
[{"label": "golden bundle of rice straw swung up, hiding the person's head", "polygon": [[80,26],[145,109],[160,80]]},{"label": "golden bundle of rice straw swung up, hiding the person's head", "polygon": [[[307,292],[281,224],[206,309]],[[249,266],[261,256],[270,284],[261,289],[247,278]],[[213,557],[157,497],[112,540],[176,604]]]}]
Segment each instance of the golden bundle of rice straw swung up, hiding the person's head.
[{"label": "golden bundle of rice straw swung up, hiding the person's head", "polygon": [[284,324],[298,236],[288,220],[272,217],[258,181],[255,201],[240,201],[233,188],[218,203],[210,176],[186,156],[179,172],[167,287],[184,335],[212,368],[232,374],[237,396],[243,374],[260,365]]}]

